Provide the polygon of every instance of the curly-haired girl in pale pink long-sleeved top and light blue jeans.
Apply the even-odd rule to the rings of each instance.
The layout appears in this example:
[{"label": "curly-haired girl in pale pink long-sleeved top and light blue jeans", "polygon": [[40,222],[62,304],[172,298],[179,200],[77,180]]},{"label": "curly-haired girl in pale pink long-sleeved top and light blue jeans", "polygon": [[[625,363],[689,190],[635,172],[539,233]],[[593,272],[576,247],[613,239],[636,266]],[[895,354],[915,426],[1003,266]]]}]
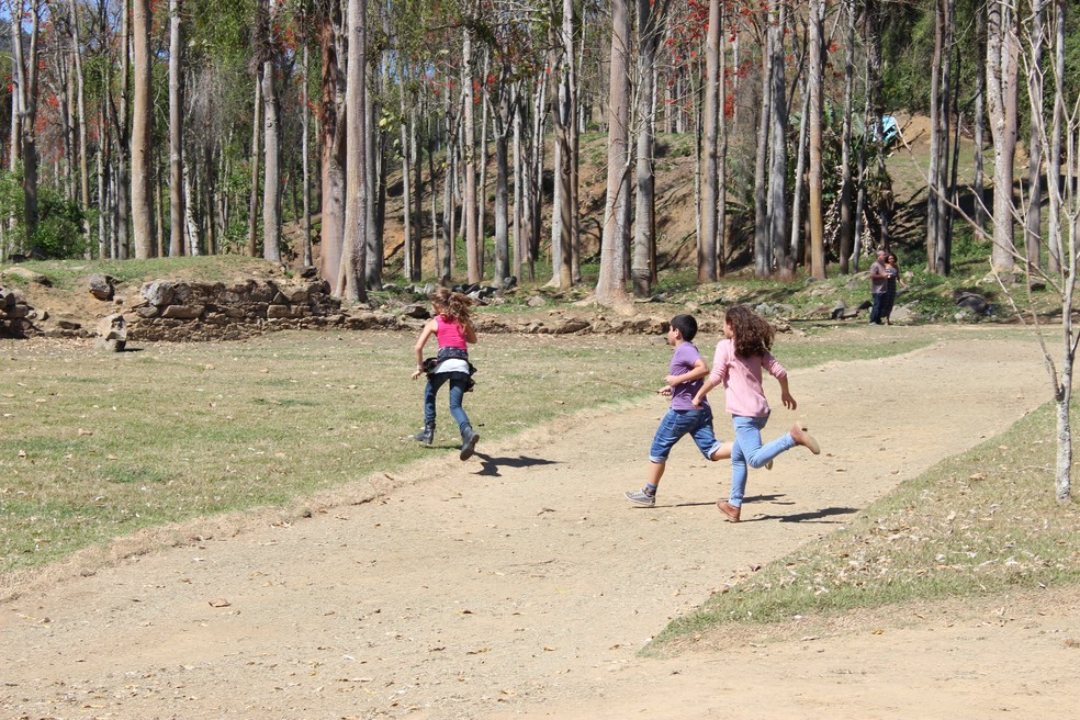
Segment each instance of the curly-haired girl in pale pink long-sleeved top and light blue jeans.
[{"label": "curly-haired girl in pale pink long-sleeved top and light blue jeans", "polygon": [[773,326],[744,305],[733,305],[723,318],[723,336],[724,339],[717,344],[712,372],[694,396],[694,405],[700,405],[710,390],[723,385],[735,440],[731,448],[731,495],[727,500],[717,500],[717,508],[731,522],[738,522],[746,491],[746,465],[767,465],[773,458],[797,445],[809,448],[814,454],[821,449],[798,424],[776,440],[762,445],[762,429],[768,423],[770,412],[762,390],[763,369],[780,383],[784,406],[792,410],[797,407],[788,391],[787,370],[769,352],[775,336]]}]

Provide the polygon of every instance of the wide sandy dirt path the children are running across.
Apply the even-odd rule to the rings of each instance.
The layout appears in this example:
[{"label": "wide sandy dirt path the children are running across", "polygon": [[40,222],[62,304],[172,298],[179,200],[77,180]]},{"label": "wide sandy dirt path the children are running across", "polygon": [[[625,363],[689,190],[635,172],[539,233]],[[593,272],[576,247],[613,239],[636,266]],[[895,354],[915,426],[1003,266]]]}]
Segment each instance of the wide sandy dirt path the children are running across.
[{"label": "wide sandy dirt path the children are running across", "polygon": [[[954,621],[936,608],[907,628],[635,656],[747,567],[1038,405],[1037,363],[1031,345],[972,337],[794,372],[797,414],[772,383],[766,437],[802,418],[823,453],[797,448],[755,471],[739,525],[713,507],[727,465],[690,443],[656,508],[622,500],[640,485],[657,398],[482,442],[468,463],[448,453],[367,505],[59,583],[0,606],[0,715],[1067,717],[1076,596],[1042,615]],[[868,402],[877,392],[897,402]],[[719,434],[729,427],[721,416]]]}]

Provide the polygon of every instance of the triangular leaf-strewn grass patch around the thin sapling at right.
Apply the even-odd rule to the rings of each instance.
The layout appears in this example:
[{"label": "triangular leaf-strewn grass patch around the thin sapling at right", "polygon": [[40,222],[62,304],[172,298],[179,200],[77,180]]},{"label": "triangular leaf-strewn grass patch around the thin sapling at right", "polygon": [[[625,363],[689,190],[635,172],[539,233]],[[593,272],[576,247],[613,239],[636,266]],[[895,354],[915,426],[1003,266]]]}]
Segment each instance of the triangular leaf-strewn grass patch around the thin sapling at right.
[{"label": "triangular leaf-strewn grass patch around the thin sapling at right", "polygon": [[[715,594],[646,648],[727,626],[1080,583],[1080,513],[1054,496],[1053,404]],[[738,629],[730,630],[739,633]]]}]

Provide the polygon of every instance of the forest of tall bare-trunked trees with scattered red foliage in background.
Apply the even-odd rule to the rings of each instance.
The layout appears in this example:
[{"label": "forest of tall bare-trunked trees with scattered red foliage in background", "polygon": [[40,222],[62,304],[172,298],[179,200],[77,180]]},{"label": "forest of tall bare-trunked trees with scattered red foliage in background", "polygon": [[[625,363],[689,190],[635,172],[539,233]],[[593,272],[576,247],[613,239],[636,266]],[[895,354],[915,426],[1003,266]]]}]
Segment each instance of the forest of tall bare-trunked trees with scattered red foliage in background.
[{"label": "forest of tall bare-trunked trees with scattered red foliage in background", "polygon": [[516,278],[619,304],[656,281],[657,136],[676,135],[700,282],[823,278],[898,239],[907,110],[930,117],[903,238],[929,271],[982,233],[1001,270],[1069,267],[1065,0],[3,0],[0,19],[3,259],[246,252],[350,300]]}]

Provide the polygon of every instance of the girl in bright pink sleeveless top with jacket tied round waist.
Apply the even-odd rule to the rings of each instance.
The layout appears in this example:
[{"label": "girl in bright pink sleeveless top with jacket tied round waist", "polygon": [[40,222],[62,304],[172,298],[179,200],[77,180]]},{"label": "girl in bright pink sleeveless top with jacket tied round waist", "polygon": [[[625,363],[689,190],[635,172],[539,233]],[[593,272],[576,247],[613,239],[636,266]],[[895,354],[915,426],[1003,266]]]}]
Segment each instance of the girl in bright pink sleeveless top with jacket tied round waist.
[{"label": "girl in bright pink sleeveless top with jacket tied round waist", "polygon": [[[462,460],[472,457],[480,436],[472,429],[469,416],[461,406],[465,393],[472,390],[472,365],[469,363],[469,344],[476,342],[476,330],[469,318],[469,307],[472,301],[465,295],[438,288],[431,293],[431,310],[435,317],[424,324],[420,337],[416,340],[416,372],[413,380],[427,374],[427,386],[424,389],[424,429],[413,436],[424,445],[431,445],[435,439],[435,401],[442,385],[450,384],[450,415],[458,423],[461,431]],[[425,367],[424,346],[431,336],[439,342],[439,355],[427,362]]]}]

